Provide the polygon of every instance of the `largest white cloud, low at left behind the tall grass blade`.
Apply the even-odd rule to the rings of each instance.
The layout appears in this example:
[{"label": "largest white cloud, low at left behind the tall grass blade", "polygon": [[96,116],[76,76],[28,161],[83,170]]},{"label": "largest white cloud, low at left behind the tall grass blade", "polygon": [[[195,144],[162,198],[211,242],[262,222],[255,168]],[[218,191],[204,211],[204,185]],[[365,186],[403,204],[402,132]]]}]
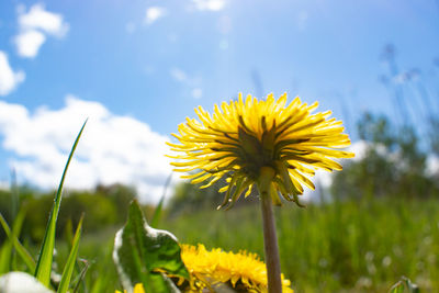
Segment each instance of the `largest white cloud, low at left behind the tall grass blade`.
[{"label": "largest white cloud, low at left behind the tall grass blade", "polygon": [[10,160],[19,180],[55,189],[71,144],[86,117],[66,179],[67,188],[90,189],[97,183],[124,183],[137,188],[140,200],[156,202],[171,172],[162,136],[133,117],[111,113],[98,102],[66,97],[59,110],[40,108],[30,113],[20,104],[0,101],[2,146],[13,151]]}]

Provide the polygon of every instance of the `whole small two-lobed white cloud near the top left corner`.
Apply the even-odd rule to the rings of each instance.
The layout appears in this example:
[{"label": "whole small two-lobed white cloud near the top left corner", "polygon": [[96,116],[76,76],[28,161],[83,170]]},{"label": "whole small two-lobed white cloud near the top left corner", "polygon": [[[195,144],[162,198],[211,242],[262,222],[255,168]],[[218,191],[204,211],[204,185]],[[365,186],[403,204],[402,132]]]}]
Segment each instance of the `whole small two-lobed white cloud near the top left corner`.
[{"label": "whole small two-lobed white cloud near the top left corner", "polygon": [[19,5],[19,34],[14,37],[19,56],[34,58],[46,41],[46,35],[63,37],[69,30],[61,14],[48,12],[43,4],[34,4],[26,13]]}]

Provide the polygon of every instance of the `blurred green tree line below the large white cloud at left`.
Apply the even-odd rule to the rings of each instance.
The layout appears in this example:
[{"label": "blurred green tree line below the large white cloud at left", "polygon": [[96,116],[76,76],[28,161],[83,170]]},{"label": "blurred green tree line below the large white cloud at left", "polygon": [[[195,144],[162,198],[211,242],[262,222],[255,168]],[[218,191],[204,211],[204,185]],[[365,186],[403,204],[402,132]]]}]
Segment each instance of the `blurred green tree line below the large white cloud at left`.
[{"label": "blurred green tree line below the large white cloud at left", "polygon": [[[25,213],[21,235],[27,237],[24,239],[26,241],[41,243],[54,202],[54,194],[55,191],[41,193],[29,187],[20,187],[15,192],[0,190],[0,213],[12,225],[16,215],[13,202],[18,201],[20,210]],[[82,213],[85,214],[82,226],[85,233],[93,233],[109,226],[120,227],[126,221],[128,204],[135,196],[135,189],[123,184],[98,185],[91,191],[66,190],[58,217],[57,236],[63,236],[68,222],[76,227]],[[148,214],[151,213],[148,212]],[[0,243],[4,237],[3,229],[0,228]]]}]

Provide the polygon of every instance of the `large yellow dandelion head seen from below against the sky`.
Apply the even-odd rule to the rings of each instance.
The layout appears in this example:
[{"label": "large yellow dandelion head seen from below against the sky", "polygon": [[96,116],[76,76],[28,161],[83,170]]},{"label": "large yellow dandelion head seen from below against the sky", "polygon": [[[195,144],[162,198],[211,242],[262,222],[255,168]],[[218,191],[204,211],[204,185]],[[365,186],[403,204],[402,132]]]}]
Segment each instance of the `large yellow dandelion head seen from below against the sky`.
[{"label": "large yellow dandelion head seen from below against the sky", "polygon": [[330,111],[312,114],[316,108],[317,102],[307,105],[299,98],[286,104],[286,93],[278,100],[273,94],[267,100],[250,94],[244,100],[239,94],[237,101],[215,104],[212,115],[199,106],[200,121],[187,119],[179,134],[172,134],[180,144],[168,143],[183,154],[169,157],[178,160],[172,162],[176,171],[195,171],[182,178],[207,181],[202,188],[225,177],[221,206],[233,204],[244,192],[248,196],[260,180],[269,181],[274,204],[281,204],[279,193],[299,204],[302,185],[314,189],[308,177],[316,169],[341,170],[333,158],[353,157],[338,149],[350,145],[341,121],[329,119]]}]

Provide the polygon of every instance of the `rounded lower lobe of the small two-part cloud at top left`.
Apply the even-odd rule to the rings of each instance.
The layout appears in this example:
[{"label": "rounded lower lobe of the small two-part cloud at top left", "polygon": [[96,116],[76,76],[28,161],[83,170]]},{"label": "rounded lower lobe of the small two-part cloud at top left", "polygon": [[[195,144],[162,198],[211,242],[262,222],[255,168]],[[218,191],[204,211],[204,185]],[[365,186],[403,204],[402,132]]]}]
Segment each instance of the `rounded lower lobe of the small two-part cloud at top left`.
[{"label": "rounded lower lobe of the small two-part cloud at top left", "polygon": [[38,55],[40,47],[46,41],[46,36],[35,30],[25,31],[15,36],[16,52],[21,57],[34,58]]}]

